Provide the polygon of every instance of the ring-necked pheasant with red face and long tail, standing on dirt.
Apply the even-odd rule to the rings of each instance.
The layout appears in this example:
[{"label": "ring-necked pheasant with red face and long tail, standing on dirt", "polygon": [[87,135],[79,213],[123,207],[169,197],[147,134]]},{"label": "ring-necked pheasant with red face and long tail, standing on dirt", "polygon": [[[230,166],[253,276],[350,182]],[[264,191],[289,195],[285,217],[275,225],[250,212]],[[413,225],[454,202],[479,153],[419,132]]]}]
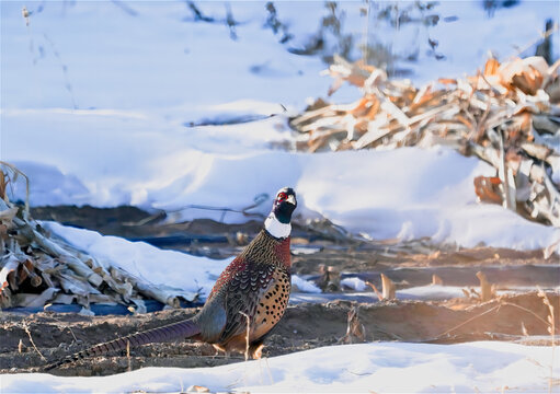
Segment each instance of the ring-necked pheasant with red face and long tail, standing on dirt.
[{"label": "ring-necked pheasant with red face and long tail, standing on dirt", "polygon": [[43,370],[124,350],[128,346],[133,348],[180,338],[209,343],[227,354],[245,351],[249,345],[252,358],[260,358],[266,334],[282,318],[288,303],[292,288],[290,220],[296,207],[294,189],[279,189],[264,221],[264,229],[221,273],[195,316],[95,345],[47,364]]}]

